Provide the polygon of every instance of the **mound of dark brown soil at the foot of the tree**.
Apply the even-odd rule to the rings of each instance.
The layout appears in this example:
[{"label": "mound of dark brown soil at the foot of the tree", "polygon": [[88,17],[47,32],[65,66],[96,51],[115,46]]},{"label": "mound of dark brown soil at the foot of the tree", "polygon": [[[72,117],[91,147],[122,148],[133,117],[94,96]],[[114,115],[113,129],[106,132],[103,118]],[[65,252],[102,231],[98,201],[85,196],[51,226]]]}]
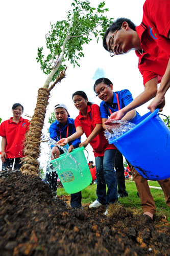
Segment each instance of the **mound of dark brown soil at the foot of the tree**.
[{"label": "mound of dark brown soil at the foot of the tree", "polygon": [[71,209],[38,177],[19,171],[0,176],[0,254],[170,255],[168,222],[152,223],[118,207]]}]

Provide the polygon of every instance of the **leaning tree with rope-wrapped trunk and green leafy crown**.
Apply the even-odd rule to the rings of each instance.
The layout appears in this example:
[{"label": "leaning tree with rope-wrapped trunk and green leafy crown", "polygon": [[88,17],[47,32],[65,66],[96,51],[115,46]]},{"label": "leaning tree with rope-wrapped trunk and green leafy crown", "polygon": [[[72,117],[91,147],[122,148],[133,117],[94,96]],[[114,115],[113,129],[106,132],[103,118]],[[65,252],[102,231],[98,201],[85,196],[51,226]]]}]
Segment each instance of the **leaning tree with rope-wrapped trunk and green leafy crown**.
[{"label": "leaning tree with rope-wrapped trunk and green leafy crown", "polygon": [[[84,57],[83,45],[88,44],[92,37],[98,42],[112,22],[104,16],[108,9],[104,9],[105,2],[97,8],[91,7],[89,1],[74,0],[67,18],[51,25],[50,33],[46,34],[46,48],[50,53],[44,58],[43,47],[38,48],[37,62],[41,69],[48,74],[43,88],[38,90],[37,104],[31,120],[30,130],[26,134],[25,154],[27,155],[21,167],[23,173],[39,175],[41,131],[44,123],[46,106],[50,91],[55,84],[65,77],[65,62],[79,65],[78,60]],[[55,65],[54,65],[54,62]],[[54,65],[54,67],[53,67]],[[57,77],[57,78],[56,78]],[[56,79],[56,80],[55,80]],[[50,86],[50,82],[54,83]]]}]

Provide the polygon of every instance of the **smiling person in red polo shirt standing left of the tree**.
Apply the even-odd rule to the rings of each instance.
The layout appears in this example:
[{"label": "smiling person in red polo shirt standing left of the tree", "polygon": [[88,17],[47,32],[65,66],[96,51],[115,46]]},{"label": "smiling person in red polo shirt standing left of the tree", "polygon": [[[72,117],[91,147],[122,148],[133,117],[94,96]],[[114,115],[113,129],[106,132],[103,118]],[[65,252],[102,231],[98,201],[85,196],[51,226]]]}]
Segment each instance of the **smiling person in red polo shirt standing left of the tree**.
[{"label": "smiling person in red polo shirt standing left of the tree", "polygon": [[2,169],[11,169],[15,159],[15,169],[21,167],[20,159],[24,156],[25,134],[29,130],[30,122],[23,119],[23,106],[15,103],[12,106],[13,117],[0,125],[0,136],[2,136]]}]

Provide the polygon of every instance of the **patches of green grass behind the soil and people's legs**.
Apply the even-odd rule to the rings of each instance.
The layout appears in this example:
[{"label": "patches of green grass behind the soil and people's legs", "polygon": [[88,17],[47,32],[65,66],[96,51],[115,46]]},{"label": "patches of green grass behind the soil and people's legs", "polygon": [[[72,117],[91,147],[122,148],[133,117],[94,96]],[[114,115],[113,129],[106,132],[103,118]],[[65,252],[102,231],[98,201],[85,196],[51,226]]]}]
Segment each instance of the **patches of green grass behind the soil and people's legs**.
[{"label": "patches of green grass behind the soil and people's legs", "polygon": [[[157,181],[149,181],[150,186],[160,187]],[[156,205],[156,214],[166,216],[170,222],[170,208],[166,205],[163,191],[155,188],[150,188]],[[126,190],[129,196],[120,198],[119,201],[124,207],[132,209],[134,212],[142,212],[141,201],[137,196],[137,188],[134,181],[126,180]],[[69,195],[64,188],[57,189],[57,195]],[[82,203],[91,203],[96,199],[96,184],[89,185],[82,190]]]}]

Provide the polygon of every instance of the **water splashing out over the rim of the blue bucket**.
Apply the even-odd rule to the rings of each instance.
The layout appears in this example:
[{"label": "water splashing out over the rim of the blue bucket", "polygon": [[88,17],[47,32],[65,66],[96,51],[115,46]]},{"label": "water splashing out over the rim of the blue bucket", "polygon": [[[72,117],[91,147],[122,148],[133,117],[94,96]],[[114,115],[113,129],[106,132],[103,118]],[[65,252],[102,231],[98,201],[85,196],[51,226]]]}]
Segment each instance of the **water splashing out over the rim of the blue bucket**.
[{"label": "water splashing out over the rim of the blue bucket", "polygon": [[106,125],[105,137],[108,141],[117,139],[124,133],[131,130],[136,124],[125,120],[110,120],[110,124]]}]

